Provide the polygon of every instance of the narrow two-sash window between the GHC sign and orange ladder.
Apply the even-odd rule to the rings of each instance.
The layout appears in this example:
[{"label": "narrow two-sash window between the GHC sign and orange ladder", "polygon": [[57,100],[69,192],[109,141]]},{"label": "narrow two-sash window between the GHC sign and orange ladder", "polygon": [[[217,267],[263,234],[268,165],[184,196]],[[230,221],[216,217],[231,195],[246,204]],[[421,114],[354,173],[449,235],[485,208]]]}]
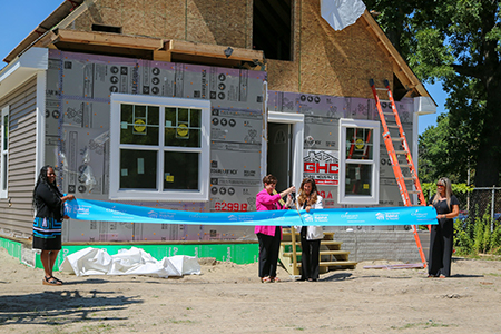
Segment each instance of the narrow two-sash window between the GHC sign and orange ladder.
[{"label": "narrow two-sash window between the GHC sign and orange ladder", "polygon": [[379,204],[380,122],[340,121],[340,204]]}]

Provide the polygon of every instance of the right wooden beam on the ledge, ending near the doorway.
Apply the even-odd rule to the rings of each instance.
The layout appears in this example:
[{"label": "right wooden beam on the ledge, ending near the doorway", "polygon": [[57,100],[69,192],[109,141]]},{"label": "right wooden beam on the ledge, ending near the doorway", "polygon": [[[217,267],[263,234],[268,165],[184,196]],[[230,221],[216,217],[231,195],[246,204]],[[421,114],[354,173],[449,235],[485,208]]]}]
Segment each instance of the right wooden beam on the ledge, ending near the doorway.
[{"label": "right wooden beam on the ledge, ending near the doorway", "polygon": [[222,58],[229,60],[239,61],[253,61],[257,59],[263,62],[263,51],[243,49],[243,48],[232,48],[232,56],[226,57],[225,50],[227,46],[216,46],[216,45],[204,45],[197,42],[189,42],[184,40],[168,40],[165,43],[165,50],[173,53],[184,53],[210,58]]}]

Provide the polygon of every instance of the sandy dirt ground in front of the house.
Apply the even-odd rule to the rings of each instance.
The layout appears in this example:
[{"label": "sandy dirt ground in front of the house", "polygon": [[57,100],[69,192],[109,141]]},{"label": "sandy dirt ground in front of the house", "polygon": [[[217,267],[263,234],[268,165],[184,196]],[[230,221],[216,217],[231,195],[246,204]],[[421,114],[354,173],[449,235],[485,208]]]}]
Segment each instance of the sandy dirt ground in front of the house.
[{"label": "sandy dirt ground in front of the house", "polygon": [[183,278],[59,274],[62,286],[0,248],[1,333],[500,333],[501,262],[454,258],[423,269],[323,274],[262,284],[257,264],[200,261]]}]

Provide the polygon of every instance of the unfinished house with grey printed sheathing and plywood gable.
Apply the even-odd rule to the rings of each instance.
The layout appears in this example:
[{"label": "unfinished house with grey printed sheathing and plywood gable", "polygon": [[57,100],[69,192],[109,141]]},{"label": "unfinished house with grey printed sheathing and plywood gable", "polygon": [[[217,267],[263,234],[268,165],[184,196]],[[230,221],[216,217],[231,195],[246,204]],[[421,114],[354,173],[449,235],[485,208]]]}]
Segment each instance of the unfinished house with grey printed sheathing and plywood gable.
[{"label": "unfinished house with grey printed sheathing and plywood gable", "polygon": [[[19,237],[46,164],[79,198],[169,209],[253,210],[268,173],[278,189],[314,177],[325,207],[399,206],[369,80],[390,80],[415,160],[435,109],[367,11],[335,31],[314,0],[65,1],[4,61],[0,232]],[[102,222],[63,237],[253,238]]]}]

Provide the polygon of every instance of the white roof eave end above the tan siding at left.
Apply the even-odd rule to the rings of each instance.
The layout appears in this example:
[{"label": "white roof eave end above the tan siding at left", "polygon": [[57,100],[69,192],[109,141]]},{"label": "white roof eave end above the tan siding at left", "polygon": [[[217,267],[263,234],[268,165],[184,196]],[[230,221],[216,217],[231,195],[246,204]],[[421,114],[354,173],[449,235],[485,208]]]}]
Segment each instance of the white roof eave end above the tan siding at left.
[{"label": "white roof eave end above the tan siding at left", "polygon": [[31,48],[0,71],[0,98],[49,67],[49,49]]}]

